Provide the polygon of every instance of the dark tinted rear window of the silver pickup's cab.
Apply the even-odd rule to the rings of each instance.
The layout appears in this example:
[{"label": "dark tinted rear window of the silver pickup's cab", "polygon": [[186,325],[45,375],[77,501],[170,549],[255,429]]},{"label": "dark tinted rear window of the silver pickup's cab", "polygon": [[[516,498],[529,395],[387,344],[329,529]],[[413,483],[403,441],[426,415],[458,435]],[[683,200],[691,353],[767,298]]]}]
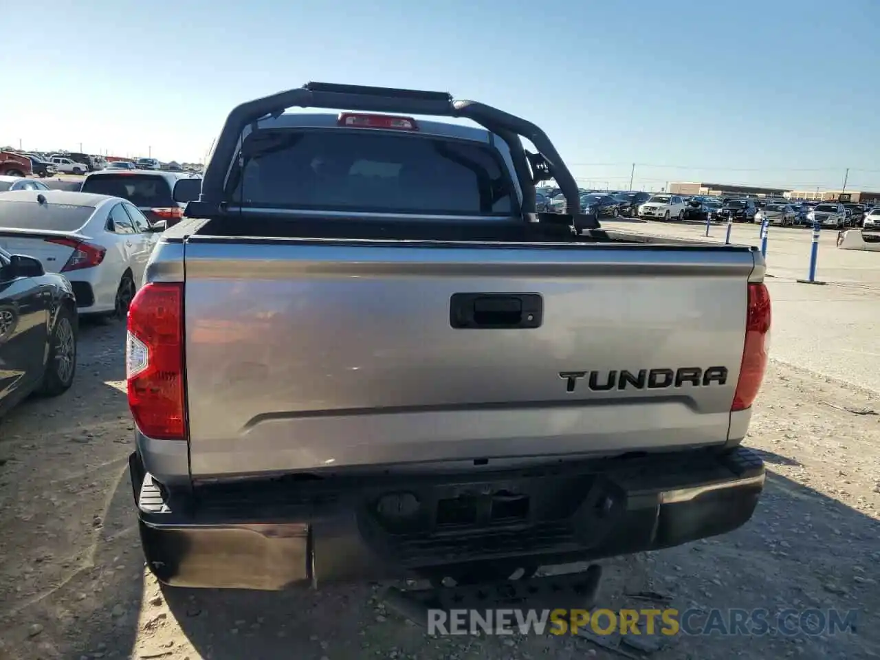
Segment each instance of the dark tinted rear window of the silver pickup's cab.
[{"label": "dark tinted rear window of the silver pickup's cab", "polygon": [[507,168],[488,144],[354,130],[260,131],[242,154],[230,192],[247,206],[505,216],[517,206]]}]

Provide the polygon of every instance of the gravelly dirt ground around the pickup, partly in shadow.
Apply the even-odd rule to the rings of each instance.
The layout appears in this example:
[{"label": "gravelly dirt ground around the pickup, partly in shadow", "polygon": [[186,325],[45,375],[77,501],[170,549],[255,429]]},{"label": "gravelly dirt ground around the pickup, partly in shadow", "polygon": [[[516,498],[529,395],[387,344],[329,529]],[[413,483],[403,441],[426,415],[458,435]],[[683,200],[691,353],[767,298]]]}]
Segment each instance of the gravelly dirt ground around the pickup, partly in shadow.
[{"label": "gravelly dirt ground around the pickup, partly in shadow", "polygon": [[[743,529],[605,563],[599,605],[857,610],[855,633],[431,638],[378,587],[160,590],[128,482],[123,328],[86,325],[75,387],[0,422],[0,658],[880,657],[880,398],[773,364],[747,444],[770,471]],[[771,616],[772,620],[772,616]],[[603,638],[614,644],[613,638]]]}]

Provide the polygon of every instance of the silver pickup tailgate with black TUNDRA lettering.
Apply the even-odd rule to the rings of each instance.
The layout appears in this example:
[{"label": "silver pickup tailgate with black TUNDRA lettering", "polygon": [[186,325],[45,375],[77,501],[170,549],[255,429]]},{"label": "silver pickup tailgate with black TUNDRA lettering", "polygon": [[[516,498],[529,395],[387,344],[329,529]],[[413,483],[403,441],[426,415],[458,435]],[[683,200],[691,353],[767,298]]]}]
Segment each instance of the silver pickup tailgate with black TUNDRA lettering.
[{"label": "silver pickup tailgate with black TUNDRA lettering", "polygon": [[[727,439],[747,248],[193,237],[185,251],[194,478]],[[461,293],[534,294],[539,326],[453,327]]]}]

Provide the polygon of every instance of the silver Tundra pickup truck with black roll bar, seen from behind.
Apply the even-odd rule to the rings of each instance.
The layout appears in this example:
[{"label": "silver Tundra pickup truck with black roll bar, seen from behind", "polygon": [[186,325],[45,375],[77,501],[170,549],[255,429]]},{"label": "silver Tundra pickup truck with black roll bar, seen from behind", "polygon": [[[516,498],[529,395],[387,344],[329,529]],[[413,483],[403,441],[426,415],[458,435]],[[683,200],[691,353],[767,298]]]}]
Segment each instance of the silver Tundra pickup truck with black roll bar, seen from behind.
[{"label": "silver Tundra pickup truck with black roll bar, seen from behind", "polygon": [[532,123],[310,83],[235,108],[175,199],[127,340],[161,582],[534,583],[752,516],[761,254],[603,230]]}]

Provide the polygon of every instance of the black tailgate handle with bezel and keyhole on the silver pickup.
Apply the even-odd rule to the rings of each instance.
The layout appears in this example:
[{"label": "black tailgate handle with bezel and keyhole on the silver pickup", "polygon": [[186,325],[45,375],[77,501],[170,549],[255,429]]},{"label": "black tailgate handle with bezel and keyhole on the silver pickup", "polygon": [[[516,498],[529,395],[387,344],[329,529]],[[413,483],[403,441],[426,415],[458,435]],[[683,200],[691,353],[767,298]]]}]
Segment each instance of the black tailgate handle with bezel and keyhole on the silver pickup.
[{"label": "black tailgate handle with bezel and keyhole on the silver pickup", "polygon": [[536,293],[456,293],[450,301],[455,328],[530,328],[541,325],[543,300]]}]

